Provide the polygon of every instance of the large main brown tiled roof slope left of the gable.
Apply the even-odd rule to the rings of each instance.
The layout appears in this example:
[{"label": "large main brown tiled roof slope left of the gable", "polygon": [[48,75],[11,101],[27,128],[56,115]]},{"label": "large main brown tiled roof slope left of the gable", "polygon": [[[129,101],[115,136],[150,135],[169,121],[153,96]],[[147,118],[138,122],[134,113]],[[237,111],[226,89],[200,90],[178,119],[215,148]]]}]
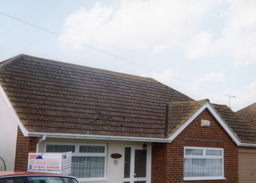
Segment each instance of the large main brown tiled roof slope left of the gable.
[{"label": "large main brown tiled roof slope left of the gable", "polygon": [[0,83],[28,132],[165,137],[166,104],[191,98],[156,80],[19,55]]}]

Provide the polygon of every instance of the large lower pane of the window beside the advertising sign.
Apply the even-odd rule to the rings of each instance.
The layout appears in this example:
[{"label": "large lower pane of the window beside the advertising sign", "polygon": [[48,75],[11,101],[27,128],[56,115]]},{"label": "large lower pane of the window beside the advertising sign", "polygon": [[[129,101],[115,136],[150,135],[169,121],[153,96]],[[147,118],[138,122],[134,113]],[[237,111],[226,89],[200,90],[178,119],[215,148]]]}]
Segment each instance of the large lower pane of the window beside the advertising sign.
[{"label": "large lower pane of the window beside the advertising sign", "polygon": [[71,175],[77,178],[103,178],[105,157],[72,157]]}]

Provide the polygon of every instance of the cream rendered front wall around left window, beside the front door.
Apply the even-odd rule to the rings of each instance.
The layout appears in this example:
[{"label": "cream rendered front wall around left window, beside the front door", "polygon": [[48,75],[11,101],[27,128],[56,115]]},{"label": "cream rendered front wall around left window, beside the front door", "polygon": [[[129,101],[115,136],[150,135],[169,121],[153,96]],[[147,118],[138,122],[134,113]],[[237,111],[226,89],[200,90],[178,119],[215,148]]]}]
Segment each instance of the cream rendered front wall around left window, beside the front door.
[{"label": "cream rendered front wall around left window, beside the front door", "polygon": [[[41,142],[39,145],[38,152],[45,152],[45,145],[48,143],[60,144],[70,144],[70,143],[79,143],[79,144],[105,144],[107,145],[107,166],[106,166],[106,181],[94,181],[97,183],[120,183],[124,182],[124,165],[125,165],[125,146],[129,145],[142,145],[144,142],[128,142],[128,141],[114,141],[114,140],[88,140],[88,139],[52,139],[47,138]],[[148,146],[151,146],[151,142],[147,142]],[[121,154],[121,158],[118,159],[118,165],[114,165],[114,158],[111,158],[111,154],[118,153]],[[82,181],[81,181],[82,182]],[[91,181],[89,181],[91,182]]]}]

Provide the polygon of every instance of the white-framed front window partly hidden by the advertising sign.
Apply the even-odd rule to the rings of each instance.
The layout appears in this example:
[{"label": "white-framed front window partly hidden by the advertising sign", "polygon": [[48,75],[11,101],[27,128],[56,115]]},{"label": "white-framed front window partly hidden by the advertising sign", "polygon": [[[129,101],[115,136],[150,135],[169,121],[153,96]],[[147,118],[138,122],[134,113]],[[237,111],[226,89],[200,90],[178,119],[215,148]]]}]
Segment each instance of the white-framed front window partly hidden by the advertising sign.
[{"label": "white-framed front window partly hidden by the advertising sign", "polygon": [[72,152],[71,175],[80,180],[105,178],[106,145],[47,144],[45,152]]}]

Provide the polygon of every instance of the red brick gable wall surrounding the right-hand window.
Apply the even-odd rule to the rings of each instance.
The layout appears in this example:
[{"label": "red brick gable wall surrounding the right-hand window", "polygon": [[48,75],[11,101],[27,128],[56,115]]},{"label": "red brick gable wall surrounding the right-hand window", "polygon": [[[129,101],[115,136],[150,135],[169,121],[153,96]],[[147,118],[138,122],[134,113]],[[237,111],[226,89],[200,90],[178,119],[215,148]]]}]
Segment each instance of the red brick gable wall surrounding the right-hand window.
[{"label": "red brick gable wall surrounding the right-hand window", "polygon": [[[201,119],[211,122],[201,127]],[[224,178],[221,181],[183,181],[184,147],[224,148]],[[151,182],[238,182],[238,146],[205,109],[171,143],[157,143],[152,147]]]}]

